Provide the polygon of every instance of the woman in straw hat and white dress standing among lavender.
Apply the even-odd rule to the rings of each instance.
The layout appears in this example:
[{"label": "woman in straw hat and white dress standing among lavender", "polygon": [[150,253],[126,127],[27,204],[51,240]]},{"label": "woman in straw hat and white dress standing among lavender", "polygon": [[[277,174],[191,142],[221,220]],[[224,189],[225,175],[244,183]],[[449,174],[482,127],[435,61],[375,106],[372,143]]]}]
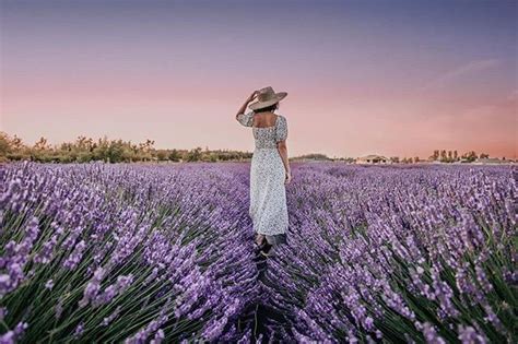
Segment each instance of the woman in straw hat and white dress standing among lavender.
[{"label": "woman in straw hat and white dress standing among lavender", "polygon": [[[287,229],[287,205],[285,185],[292,180],[287,161],[287,122],[279,109],[279,102],[286,92],[275,93],[272,87],[255,91],[237,111],[236,119],[245,127],[251,127],[255,150],[250,165],[250,207],[256,244],[261,253],[271,256],[273,248],[284,244]],[[256,103],[245,114],[248,104]]]}]

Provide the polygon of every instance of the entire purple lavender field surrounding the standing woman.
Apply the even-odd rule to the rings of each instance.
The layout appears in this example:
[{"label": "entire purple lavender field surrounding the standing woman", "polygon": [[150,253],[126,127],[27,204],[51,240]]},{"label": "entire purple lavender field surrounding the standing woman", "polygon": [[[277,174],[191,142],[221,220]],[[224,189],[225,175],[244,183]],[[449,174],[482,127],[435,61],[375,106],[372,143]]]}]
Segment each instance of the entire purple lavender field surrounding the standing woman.
[{"label": "entire purple lavender field surrounding the standing woman", "polygon": [[260,272],[247,163],[1,167],[0,343],[517,342],[516,167],[292,170]]}]

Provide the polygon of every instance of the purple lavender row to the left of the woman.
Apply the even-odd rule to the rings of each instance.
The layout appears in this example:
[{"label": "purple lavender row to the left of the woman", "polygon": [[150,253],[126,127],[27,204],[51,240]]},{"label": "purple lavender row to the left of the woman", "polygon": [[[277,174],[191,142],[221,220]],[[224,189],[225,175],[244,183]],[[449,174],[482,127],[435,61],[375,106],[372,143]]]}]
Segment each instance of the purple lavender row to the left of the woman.
[{"label": "purple lavender row to the left of the woman", "polygon": [[250,333],[236,321],[258,298],[246,174],[236,168],[3,167],[0,342]]}]

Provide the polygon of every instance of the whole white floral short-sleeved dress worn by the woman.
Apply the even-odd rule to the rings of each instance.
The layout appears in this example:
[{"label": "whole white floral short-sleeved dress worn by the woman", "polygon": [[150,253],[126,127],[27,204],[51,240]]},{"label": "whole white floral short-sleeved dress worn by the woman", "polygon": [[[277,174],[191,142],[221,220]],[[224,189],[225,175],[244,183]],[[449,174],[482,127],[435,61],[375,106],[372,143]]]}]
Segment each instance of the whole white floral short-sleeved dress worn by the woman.
[{"label": "whole white floral short-sleeved dress worn by the woman", "polygon": [[289,226],[284,185],[286,175],[276,143],[287,138],[286,118],[278,115],[275,124],[266,128],[254,127],[254,111],[239,114],[237,120],[252,128],[255,139],[249,206],[254,232],[267,235],[267,239],[269,236],[283,235]]}]

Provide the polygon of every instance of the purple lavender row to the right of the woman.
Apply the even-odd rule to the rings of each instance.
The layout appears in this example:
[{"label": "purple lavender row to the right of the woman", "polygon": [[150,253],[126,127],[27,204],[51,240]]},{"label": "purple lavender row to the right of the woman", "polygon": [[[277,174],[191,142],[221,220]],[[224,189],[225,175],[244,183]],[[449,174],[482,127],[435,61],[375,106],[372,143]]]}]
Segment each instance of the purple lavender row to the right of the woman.
[{"label": "purple lavender row to the right of the woman", "polygon": [[505,167],[320,164],[287,189],[270,306],[290,341],[516,343],[517,187]]}]

